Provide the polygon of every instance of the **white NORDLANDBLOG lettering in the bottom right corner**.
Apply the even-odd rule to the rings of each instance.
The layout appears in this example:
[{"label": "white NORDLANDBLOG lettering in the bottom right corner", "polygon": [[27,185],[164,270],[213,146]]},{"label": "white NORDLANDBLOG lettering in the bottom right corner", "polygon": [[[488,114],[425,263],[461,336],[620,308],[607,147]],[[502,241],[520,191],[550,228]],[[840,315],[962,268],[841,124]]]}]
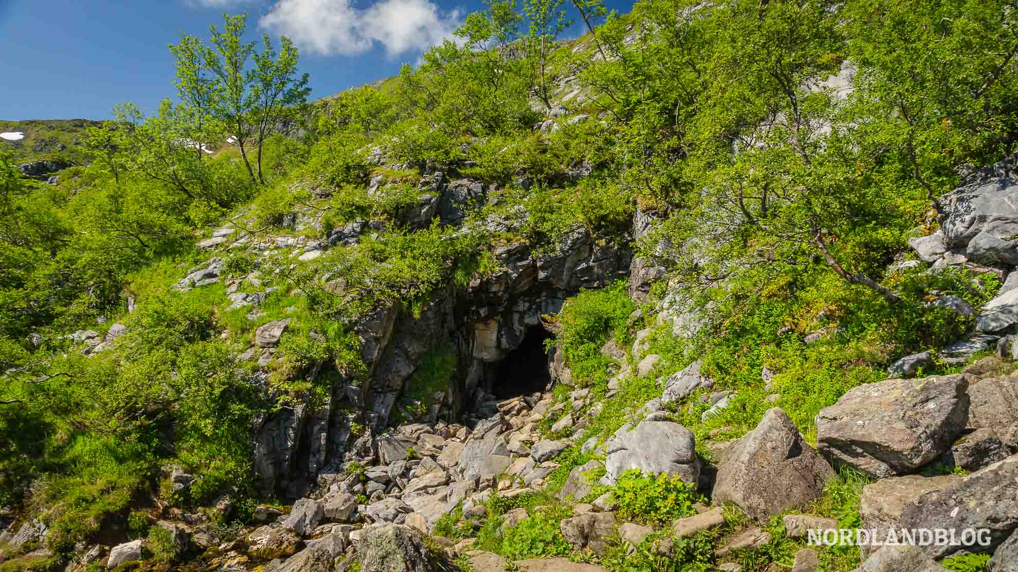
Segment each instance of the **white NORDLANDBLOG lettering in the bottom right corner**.
[{"label": "white NORDLANDBLOG lettering in the bottom right corner", "polygon": [[813,528],[807,532],[810,546],[913,546],[988,547],[988,528]]}]

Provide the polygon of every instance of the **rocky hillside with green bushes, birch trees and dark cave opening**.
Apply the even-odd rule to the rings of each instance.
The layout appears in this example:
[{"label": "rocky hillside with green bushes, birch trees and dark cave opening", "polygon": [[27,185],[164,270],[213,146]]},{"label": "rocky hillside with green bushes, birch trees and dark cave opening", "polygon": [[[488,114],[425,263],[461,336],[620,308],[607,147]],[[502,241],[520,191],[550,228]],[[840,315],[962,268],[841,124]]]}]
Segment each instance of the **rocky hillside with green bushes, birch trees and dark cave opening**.
[{"label": "rocky hillside with green bushes, birch trees and dark cave opening", "polygon": [[4,157],[0,572],[1018,569],[1010,6],[680,4]]}]

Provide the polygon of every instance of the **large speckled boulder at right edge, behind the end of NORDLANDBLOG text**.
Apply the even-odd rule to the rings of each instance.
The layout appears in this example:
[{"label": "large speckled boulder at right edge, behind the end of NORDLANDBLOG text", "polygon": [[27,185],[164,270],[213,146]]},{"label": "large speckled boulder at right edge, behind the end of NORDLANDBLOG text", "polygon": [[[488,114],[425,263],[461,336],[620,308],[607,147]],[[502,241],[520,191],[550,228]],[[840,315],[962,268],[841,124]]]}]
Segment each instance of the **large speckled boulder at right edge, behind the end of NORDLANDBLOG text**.
[{"label": "large speckled boulder at right edge, behind the end of NORDLANDBLOG text", "polygon": [[[904,528],[986,528],[988,546],[980,552],[993,552],[1018,528],[1018,454],[962,478],[953,486],[927,493],[918,503],[902,511]],[[959,546],[920,547],[926,556],[941,559],[961,550]]]}]

